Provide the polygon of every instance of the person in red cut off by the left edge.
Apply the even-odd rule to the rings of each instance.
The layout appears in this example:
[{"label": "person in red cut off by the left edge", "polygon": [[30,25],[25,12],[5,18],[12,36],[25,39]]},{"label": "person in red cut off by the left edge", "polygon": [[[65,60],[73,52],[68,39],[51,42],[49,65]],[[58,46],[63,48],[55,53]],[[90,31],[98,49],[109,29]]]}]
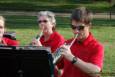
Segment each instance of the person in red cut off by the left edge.
[{"label": "person in red cut off by the left edge", "polygon": [[18,46],[19,41],[4,37],[5,33],[5,18],[0,16],[0,45],[3,46]]}]

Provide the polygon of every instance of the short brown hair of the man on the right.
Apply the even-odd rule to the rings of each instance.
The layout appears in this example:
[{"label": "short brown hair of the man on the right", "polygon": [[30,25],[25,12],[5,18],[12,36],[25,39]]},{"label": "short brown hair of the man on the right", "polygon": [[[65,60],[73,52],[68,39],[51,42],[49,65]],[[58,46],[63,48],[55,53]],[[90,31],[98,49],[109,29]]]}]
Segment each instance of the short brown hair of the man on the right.
[{"label": "short brown hair of the man on the right", "polygon": [[85,24],[91,24],[92,13],[85,7],[78,7],[72,11],[71,20],[80,21]]}]

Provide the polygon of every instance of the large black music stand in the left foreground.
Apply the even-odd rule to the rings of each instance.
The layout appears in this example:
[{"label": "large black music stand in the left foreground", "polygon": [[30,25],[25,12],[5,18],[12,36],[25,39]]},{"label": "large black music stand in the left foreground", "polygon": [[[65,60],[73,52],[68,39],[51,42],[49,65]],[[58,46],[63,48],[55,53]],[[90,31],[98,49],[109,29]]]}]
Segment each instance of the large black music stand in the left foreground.
[{"label": "large black music stand in the left foreground", "polygon": [[0,47],[0,77],[54,77],[46,47]]}]

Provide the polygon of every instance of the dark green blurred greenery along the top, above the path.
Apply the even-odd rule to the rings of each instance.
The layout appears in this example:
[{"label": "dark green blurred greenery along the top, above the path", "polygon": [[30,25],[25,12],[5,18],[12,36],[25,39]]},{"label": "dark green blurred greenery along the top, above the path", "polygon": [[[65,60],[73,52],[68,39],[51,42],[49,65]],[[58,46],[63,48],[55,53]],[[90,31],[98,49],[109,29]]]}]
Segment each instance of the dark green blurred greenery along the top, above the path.
[{"label": "dark green blurred greenery along the top, above the path", "polygon": [[78,6],[86,6],[93,12],[107,12],[115,8],[112,0],[0,0],[0,10],[71,12]]}]

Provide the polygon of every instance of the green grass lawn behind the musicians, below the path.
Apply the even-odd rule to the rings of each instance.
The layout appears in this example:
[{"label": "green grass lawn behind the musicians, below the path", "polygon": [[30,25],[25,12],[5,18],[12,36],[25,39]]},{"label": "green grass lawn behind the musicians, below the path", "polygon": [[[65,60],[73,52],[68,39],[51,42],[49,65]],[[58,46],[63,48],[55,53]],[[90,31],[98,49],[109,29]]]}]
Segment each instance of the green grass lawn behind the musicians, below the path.
[{"label": "green grass lawn behind the musicians, below the path", "polygon": [[[15,31],[20,45],[27,45],[36,36],[38,26],[34,16],[5,16],[8,31]],[[103,73],[115,71],[115,20],[93,20],[91,32],[105,47],[105,59]],[[70,29],[69,18],[57,17],[57,30],[66,38],[73,36]],[[107,75],[107,74],[105,74]],[[108,74],[109,75],[109,74]],[[104,76],[103,76],[104,77]]]}]

